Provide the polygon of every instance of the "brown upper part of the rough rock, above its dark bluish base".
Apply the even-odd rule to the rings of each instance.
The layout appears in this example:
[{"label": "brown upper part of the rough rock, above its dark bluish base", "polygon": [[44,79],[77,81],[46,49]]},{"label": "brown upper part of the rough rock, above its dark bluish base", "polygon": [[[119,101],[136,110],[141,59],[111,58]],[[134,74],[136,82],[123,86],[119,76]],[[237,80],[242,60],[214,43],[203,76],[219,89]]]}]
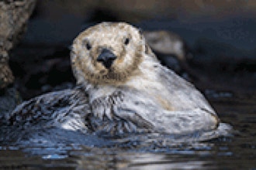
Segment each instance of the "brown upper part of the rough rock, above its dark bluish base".
[{"label": "brown upper part of the rough rock, above its dark bluish base", "polygon": [[21,38],[35,4],[35,0],[0,2],[0,88],[8,86],[14,80],[8,65],[9,50]]}]

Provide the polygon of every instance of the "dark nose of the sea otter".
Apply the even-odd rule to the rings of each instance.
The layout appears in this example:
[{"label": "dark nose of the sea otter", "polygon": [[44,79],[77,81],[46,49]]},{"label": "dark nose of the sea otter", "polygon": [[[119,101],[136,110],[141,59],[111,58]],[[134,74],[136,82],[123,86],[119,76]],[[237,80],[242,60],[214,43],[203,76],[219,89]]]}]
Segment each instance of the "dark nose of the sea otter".
[{"label": "dark nose of the sea otter", "polygon": [[109,69],[115,59],[116,55],[109,49],[102,49],[102,53],[99,54],[97,61],[101,62],[107,69]]}]

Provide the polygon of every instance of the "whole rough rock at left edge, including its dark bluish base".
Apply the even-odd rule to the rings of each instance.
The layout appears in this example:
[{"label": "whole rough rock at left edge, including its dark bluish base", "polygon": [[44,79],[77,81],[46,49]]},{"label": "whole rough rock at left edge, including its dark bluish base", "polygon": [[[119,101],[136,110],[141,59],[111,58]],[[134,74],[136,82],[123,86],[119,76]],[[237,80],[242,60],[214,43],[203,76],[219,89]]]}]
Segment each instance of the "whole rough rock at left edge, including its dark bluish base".
[{"label": "whole rough rock at left edge, including its dark bluish base", "polygon": [[26,22],[35,4],[35,0],[0,2],[0,120],[21,102],[16,88],[9,87],[14,81],[9,68],[9,51],[26,30]]}]

